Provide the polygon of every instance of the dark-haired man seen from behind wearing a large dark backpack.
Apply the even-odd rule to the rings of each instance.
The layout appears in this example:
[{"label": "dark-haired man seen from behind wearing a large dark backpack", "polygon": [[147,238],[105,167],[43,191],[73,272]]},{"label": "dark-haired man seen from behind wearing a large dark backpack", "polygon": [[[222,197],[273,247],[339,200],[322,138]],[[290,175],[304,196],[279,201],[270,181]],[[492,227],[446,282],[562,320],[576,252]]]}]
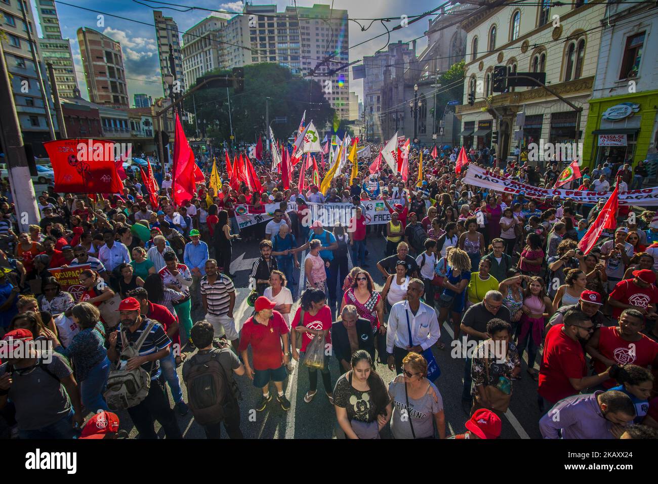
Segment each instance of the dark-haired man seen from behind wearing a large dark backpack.
[{"label": "dark-haired man seen from behind wearing a large dark backpack", "polygon": [[[213,341],[215,329],[209,322],[197,322],[191,338],[197,354],[183,363],[183,380],[188,404],[207,439],[221,438],[221,423],[231,439],[243,439],[240,430],[240,391],[233,374],[244,375],[245,368],[226,339]],[[215,346],[216,344],[216,346]]]}]

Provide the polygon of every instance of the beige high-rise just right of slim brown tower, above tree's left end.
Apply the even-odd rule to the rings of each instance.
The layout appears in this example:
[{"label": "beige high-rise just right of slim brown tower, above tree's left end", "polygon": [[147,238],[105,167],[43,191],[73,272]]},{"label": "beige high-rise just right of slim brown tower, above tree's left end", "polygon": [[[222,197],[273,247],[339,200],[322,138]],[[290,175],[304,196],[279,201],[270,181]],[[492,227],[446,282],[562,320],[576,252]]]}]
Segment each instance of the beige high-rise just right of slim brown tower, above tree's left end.
[{"label": "beige high-rise just right of slim brown tower, above tree's left end", "polygon": [[206,72],[226,66],[224,51],[226,18],[209,16],[183,34],[183,76],[185,84],[192,86]]}]

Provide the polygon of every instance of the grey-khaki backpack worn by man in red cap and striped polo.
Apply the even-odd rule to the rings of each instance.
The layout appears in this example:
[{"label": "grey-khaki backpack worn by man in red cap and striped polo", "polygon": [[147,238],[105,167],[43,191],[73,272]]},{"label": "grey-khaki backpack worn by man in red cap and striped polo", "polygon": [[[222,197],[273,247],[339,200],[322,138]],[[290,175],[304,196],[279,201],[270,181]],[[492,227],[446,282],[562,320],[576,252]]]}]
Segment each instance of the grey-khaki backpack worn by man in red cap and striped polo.
[{"label": "grey-khaki backpack worn by man in red cap and striped polo", "polygon": [[110,410],[125,410],[140,404],[149,394],[151,388],[151,375],[141,368],[134,370],[121,370],[121,363],[139,356],[139,349],[155,326],[155,320],[149,320],[146,329],[139,335],[134,345],[128,343],[126,329],[121,329],[122,349],[116,367],[107,377],[107,389],[103,393]]}]

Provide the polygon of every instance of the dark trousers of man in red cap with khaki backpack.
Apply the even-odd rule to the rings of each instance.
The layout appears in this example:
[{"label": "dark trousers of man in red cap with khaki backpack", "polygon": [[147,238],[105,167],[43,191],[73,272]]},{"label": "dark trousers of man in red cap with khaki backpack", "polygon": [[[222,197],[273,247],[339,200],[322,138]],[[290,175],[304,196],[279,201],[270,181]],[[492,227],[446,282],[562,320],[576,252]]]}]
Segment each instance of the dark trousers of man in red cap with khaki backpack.
[{"label": "dark trousers of man in red cap with khaki backpack", "polygon": [[174,410],[169,406],[163,384],[156,378],[151,380],[149,394],[139,405],[128,408],[128,415],[139,432],[140,439],[157,439],[153,421],[157,420],[164,429],[167,439],[182,439]]}]

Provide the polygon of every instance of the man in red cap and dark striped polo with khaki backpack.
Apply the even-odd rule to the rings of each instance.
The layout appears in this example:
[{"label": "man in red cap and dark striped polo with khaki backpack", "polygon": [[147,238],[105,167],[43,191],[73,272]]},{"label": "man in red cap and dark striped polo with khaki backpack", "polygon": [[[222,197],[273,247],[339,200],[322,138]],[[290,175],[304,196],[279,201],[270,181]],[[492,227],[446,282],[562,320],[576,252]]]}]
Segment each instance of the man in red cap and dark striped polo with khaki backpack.
[{"label": "man in red cap and dark striped polo with khaki backpack", "polygon": [[171,340],[159,322],[141,316],[134,297],[121,301],[118,311],[120,331],[108,337],[107,357],[114,367],[107,379],[105,401],[111,410],[128,410],[141,439],[157,439],[154,420],[162,425],[167,439],[182,439],[159,379],[160,360],[168,356]]}]

